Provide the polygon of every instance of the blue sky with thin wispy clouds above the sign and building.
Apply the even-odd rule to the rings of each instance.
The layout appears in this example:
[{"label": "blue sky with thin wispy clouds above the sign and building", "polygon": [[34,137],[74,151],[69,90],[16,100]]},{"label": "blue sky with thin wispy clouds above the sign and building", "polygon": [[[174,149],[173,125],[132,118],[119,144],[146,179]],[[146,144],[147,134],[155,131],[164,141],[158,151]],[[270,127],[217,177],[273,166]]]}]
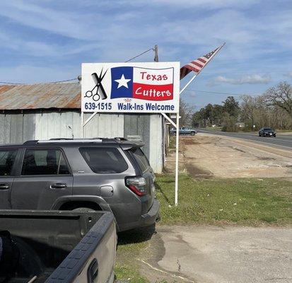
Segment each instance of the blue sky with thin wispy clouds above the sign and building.
[{"label": "blue sky with thin wispy clouds above the sign and building", "polygon": [[155,44],[160,61],[183,65],[226,42],[182,94],[201,108],[227,97],[211,92],[292,83],[291,15],[291,0],[1,1],[0,81],[72,79],[82,62],[124,62]]}]

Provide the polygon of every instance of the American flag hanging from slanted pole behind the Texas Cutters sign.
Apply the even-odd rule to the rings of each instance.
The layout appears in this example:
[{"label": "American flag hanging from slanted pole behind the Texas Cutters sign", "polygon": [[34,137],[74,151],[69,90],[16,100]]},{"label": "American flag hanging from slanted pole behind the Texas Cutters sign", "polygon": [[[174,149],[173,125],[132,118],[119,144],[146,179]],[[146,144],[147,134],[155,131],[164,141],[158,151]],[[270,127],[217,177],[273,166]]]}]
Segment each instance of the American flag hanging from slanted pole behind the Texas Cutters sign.
[{"label": "American flag hanging from slanted pole behind the Texas Cutters sign", "polygon": [[194,71],[195,73],[199,74],[200,71],[206,66],[206,64],[209,63],[209,61],[216,55],[216,53],[221,50],[221,48],[225,45],[225,43],[219,47],[216,48],[216,50],[213,50],[206,55],[199,57],[198,59],[190,62],[189,64],[186,64],[184,67],[180,68],[180,79],[185,78],[187,74],[189,74],[191,71]]}]

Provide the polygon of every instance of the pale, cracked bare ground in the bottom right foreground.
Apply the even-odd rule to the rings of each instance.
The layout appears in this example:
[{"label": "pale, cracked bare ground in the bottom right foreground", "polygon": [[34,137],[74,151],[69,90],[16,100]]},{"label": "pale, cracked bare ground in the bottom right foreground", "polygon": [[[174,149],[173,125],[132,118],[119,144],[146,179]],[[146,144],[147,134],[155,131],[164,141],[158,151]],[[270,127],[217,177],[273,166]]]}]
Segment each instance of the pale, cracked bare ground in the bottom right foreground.
[{"label": "pale, cracked bare ground in the bottom right foreground", "polygon": [[159,226],[138,258],[151,282],[292,282],[291,229]]}]

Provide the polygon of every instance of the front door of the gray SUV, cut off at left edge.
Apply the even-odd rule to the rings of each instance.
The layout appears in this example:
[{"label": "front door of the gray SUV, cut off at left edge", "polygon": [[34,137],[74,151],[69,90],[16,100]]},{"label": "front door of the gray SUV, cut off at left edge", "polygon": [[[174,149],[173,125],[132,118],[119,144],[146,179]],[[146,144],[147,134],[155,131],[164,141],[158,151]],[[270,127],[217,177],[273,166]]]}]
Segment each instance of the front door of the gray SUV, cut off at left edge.
[{"label": "front door of the gray SUV, cut off at left edge", "polygon": [[0,209],[10,209],[10,193],[13,184],[13,169],[18,149],[0,150]]}]

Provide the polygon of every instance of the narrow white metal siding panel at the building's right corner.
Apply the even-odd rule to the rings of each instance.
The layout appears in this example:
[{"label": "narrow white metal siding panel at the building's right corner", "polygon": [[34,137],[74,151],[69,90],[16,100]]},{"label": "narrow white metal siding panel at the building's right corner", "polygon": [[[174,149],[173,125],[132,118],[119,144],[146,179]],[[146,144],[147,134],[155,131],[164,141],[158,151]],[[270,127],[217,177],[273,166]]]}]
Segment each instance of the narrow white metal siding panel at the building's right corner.
[{"label": "narrow white metal siding panel at the building's right corner", "polygon": [[149,152],[149,163],[155,173],[163,171],[163,126],[161,115],[151,115],[149,129],[151,146]]}]

